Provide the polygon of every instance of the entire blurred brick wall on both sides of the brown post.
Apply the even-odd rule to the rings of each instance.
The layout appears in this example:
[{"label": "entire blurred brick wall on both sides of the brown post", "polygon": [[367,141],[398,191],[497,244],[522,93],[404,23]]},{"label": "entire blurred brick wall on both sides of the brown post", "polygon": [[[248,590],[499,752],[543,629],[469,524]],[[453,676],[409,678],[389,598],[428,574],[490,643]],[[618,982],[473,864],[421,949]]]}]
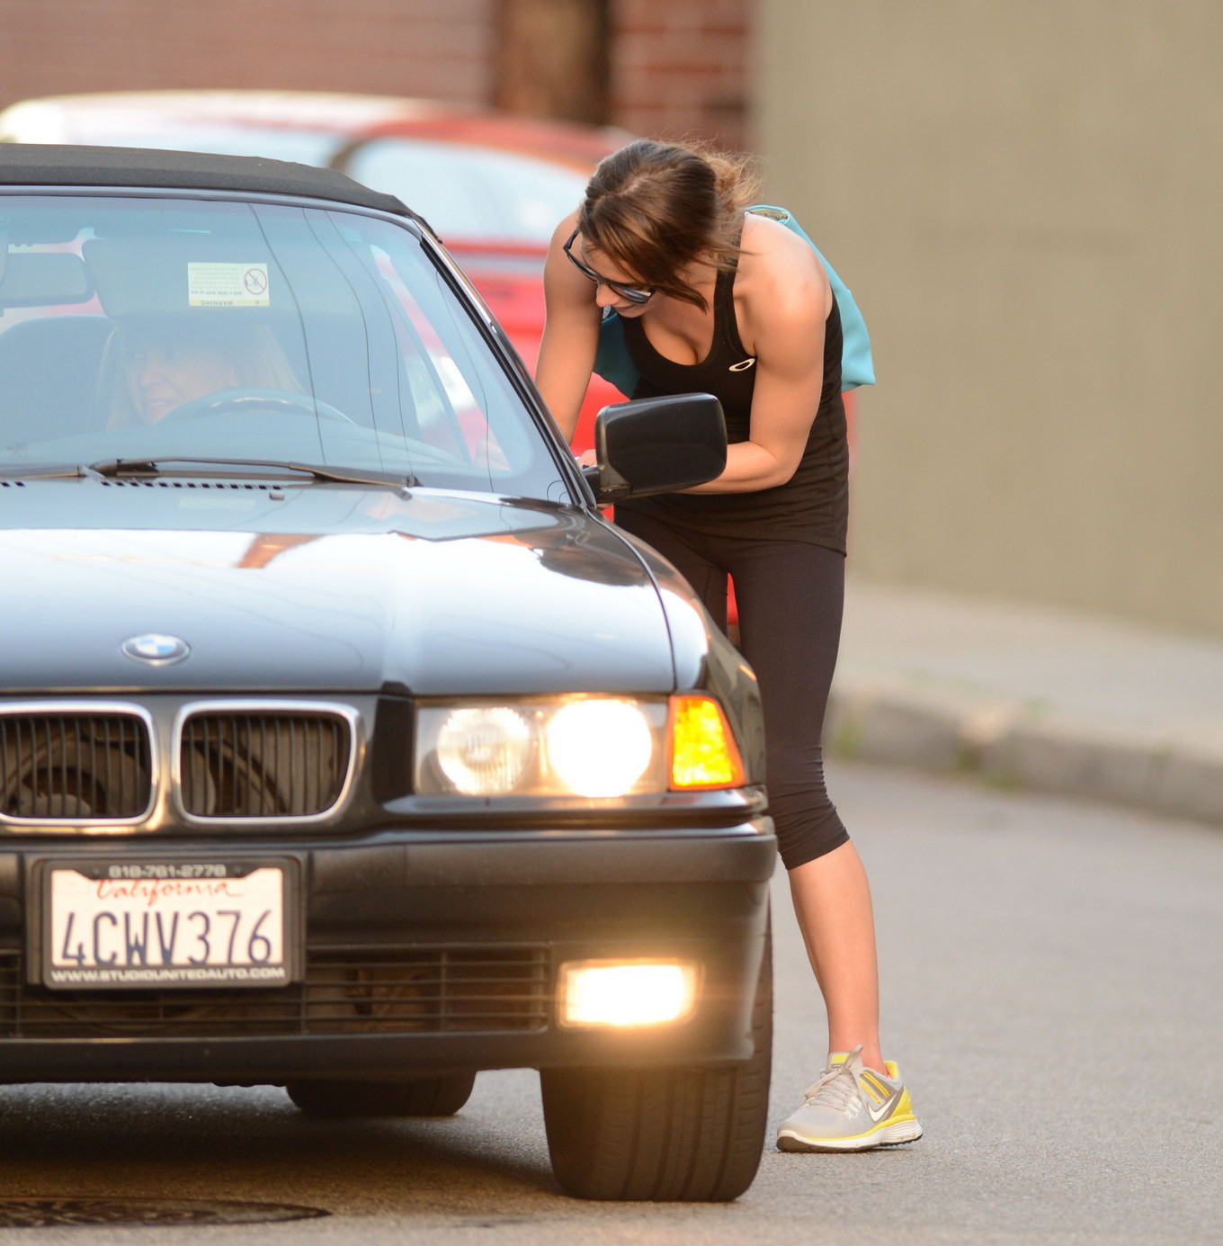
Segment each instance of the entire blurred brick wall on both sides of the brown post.
[{"label": "entire blurred brick wall on both sides of the brown post", "polygon": [[[610,116],[747,142],[753,0],[608,0]],[[498,0],[0,0],[0,106],[157,87],[361,91],[488,103]]]}]

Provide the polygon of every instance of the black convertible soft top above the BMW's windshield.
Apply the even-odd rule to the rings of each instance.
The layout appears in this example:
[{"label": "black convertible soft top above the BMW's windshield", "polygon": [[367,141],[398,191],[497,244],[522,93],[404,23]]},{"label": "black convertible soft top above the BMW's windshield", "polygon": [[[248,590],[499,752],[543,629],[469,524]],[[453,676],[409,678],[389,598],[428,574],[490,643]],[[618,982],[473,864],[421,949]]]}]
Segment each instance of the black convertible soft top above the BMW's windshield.
[{"label": "black convertible soft top above the BMW's windshield", "polygon": [[381,194],[334,168],[262,156],[210,156],[146,147],[0,143],[0,186],[123,186],[187,191],[257,191],[355,203],[420,219],[394,194]]}]

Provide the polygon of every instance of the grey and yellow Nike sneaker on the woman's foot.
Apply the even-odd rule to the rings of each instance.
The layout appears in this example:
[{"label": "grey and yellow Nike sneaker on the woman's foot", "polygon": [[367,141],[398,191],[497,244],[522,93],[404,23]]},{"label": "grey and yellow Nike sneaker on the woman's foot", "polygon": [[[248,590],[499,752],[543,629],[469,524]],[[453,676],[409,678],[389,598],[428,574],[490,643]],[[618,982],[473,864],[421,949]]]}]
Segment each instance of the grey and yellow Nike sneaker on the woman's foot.
[{"label": "grey and yellow Nike sneaker on the woman's foot", "polygon": [[862,1064],[862,1048],[834,1052],[828,1068],[807,1087],[807,1101],[777,1130],[782,1151],[864,1151],[915,1143],[922,1126],[913,1115],[900,1070],[888,1075]]}]

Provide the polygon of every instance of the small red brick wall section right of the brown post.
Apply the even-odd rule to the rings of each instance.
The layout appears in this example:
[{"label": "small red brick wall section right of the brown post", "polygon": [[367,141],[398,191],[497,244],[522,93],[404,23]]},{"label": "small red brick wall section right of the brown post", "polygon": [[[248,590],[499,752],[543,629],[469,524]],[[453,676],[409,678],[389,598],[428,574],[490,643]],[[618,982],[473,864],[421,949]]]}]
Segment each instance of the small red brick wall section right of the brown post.
[{"label": "small red brick wall section right of the brown post", "polygon": [[753,0],[612,0],[612,112],[634,133],[746,147]]}]

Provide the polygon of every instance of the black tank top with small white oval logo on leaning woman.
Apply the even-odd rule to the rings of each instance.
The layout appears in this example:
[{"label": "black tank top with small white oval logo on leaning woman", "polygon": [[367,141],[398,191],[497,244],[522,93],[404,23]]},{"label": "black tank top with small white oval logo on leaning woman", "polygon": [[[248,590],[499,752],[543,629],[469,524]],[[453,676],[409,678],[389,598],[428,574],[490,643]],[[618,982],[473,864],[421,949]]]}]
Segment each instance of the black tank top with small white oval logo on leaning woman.
[{"label": "black tank top with small white oval logo on leaning woman", "polygon": [[[756,360],[744,350],[735,318],[735,273],[720,272],[714,288],[714,343],[699,364],[660,355],[638,316],[621,318],[624,344],[641,379],[633,397],[712,394],[726,412],[726,436],[747,441]],[[618,502],[616,511],[648,515],[673,528],[709,536],[806,541],[846,552],[849,447],[841,399],[841,312],[833,297],[824,325],[823,389],[807,447],[785,485],[751,493],[658,493]]]}]

